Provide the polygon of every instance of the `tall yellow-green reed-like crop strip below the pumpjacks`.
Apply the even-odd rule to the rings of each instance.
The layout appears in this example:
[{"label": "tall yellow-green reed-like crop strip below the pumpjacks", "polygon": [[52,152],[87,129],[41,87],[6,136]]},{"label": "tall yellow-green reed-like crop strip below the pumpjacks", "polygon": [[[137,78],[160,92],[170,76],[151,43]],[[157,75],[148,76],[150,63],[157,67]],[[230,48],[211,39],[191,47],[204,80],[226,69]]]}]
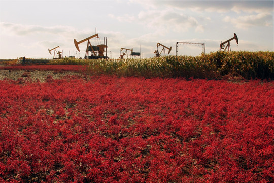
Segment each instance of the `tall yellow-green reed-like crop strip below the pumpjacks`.
[{"label": "tall yellow-green reed-like crop strip below the pumpjacks", "polygon": [[166,56],[144,59],[76,59],[51,60],[50,64],[85,65],[91,74],[222,79],[274,79],[274,52],[211,52],[200,56]]}]

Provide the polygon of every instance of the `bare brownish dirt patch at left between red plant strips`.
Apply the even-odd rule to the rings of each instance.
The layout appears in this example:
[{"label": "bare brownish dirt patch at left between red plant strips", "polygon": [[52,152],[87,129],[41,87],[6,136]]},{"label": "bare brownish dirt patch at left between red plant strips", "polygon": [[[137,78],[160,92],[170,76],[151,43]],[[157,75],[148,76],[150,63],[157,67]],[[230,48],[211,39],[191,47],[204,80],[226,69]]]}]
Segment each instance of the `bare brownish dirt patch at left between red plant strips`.
[{"label": "bare brownish dirt patch at left between red plant strips", "polygon": [[67,75],[79,75],[83,76],[82,73],[73,72],[73,71],[26,71],[26,70],[2,70],[0,69],[0,80],[12,79],[17,80],[18,78],[29,77],[32,81],[39,79],[40,82],[45,82],[48,75],[51,75],[53,79],[65,78]]}]

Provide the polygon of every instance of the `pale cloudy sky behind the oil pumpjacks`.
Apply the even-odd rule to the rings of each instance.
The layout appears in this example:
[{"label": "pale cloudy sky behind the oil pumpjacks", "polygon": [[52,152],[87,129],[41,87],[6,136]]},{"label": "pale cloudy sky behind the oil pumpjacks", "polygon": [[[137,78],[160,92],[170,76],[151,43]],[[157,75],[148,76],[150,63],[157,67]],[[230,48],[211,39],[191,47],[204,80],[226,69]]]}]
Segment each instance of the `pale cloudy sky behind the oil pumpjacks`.
[{"label": "pale cloudy sky behind the oil pumpjacks", "polygon": [[[120,48],[155,57],[157,43],[172,47],[170,55],[176,55],[177,42],[204,43],[205,53],[215,52],[234,33],[239,42],[230,41],[232,51],[274,51],[273,2],[0,0],[0,58],[53,58],[48,49],[56,46],[63,56],[83,58],[87,41],[78,52],[74,39],[95,33],[99,38],[91,44],[107,38],[111,58],[119,57]],[[178,55],[201,52],[201,44],[178,44]]]}]

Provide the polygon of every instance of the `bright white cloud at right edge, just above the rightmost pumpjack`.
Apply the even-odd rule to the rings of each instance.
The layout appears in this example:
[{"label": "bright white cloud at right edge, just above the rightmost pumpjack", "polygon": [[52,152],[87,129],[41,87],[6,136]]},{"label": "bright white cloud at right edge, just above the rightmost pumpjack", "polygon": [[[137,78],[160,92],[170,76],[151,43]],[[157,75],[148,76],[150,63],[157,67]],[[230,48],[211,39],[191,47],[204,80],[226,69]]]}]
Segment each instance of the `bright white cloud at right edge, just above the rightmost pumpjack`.
[{"label": "bright white cloud at right edge, just above the rightmost pumpjack", "polygon": [[225,22],[230,22],[235,27],[240,29],[247,29],[251,26],[273,26],[273,17],[267,13],[259,13],[256,15],[240,16],[237,18],[231,18],[226,16],[223,19]]}]

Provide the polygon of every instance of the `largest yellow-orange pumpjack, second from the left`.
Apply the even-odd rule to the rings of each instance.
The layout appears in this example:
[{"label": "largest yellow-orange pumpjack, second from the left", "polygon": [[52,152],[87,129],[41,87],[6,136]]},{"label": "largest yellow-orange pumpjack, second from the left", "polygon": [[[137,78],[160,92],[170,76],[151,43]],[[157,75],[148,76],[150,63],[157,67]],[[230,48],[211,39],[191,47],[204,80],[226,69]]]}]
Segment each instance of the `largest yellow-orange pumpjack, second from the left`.
[{"label": "largest yellow-orange pumpjack, second from the left", "polygon": [[[92,35],[86,39],[83,39],[79,42],[76,41],[76,39],[74,39],[74,45],[76,47],[76,49],[78,51],[80,51],[79,49],[79,44],[87,41],[87,48],[86,48],[86,54],[85,54],[85,59],[99,59],[99,58],[107,58],[107,50],[106,50],[106,56],[104,56],[104,51],[105,48],[107,49],[107,38],[106,38],[106,45],[105,45],[105,38],[104,38],[104,44],[100,44],[100,45],[91,45],[90,43],[90,39],[91,38],[99,38],[98,34]],[[89,55],[88,53],[91,52],[91,55]]]}]

